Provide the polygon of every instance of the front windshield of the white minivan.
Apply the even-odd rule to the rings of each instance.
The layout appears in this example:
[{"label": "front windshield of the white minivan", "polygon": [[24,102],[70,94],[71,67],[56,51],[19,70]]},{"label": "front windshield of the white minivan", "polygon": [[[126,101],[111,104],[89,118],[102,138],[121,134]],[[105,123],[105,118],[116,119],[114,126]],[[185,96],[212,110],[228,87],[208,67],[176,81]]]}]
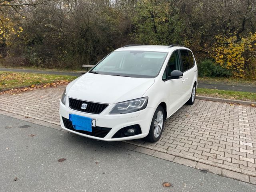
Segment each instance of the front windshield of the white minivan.
[{"label": "front windshield of the white minivan", "polygon": [[152,51],[115,51],[98,63],[90,73],[154,78],[158,76],[167,54]]}]

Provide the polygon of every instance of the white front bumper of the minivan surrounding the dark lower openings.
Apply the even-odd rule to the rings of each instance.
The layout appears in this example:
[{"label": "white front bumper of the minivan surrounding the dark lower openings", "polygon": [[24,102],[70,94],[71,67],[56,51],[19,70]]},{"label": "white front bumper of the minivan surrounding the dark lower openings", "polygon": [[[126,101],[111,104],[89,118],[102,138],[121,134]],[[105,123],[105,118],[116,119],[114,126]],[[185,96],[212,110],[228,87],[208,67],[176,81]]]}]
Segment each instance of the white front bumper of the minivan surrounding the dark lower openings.
[{"label": "white front bumper of the minivan surrounding the dark lower openings", "polygon": [[[117,115],[110,115],[109,112],[112,110],[112,108],[115,106],[115,104],[110,104],[102,113],[100,114],[89,114],[85,112],[79,112],[76,110],[72,110],[69,108],[68,103],[66,106],[60,102],[60,124],[61,127],[64,130],[67,130],[69,132],[72,132],[74,134],[78,134],[80,136],[93,138],[97,140],[104,140],[104,141],[121,141],[121,140],[132,140],[132,139],[139,139],[144,138],[148,135],[150,124],[155,112],[154,108],[145,108],[144,110],[128,113],[128,114],[117,114]],[[104,137],[96,137],[96,136],[90,136],[87,134],[79,133],[74,130],[70,130],[68,128],[65,128],[62,117],[69,118],[69,114],[76,114],[80,116],[89,117],[96,120],[96,126],[99,127],[106,127],[111,128],[110,132]],[[128,136],[128,137],[122,137],[122,138],[112,138],[114,134],[120,130],[121,128],[132,126],[138,124],[141,128],[141,134],[134,135],[134,136]]]}]

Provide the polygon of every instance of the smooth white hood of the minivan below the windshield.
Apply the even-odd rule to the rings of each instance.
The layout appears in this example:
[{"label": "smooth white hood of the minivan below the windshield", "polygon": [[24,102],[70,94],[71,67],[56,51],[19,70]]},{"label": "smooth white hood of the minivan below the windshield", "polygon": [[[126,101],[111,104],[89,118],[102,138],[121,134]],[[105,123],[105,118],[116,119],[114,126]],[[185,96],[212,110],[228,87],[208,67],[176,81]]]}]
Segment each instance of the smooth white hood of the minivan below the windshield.
[{"label": "smooth white hood of the minivan below the windshield", "polygon": [[79,100],[113,104],[141,98],[154,78],[132,78],[86,73],[71,82],[67,96]]}]

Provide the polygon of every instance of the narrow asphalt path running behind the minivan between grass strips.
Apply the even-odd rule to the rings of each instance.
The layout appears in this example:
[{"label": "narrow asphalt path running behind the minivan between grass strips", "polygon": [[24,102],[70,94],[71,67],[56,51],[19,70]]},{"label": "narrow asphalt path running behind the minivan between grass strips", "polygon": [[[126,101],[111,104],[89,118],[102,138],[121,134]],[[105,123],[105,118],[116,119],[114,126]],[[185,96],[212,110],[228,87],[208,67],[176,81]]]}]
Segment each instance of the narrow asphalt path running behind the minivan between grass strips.
[{"label": "narrow asphalt path running behind the minivan between grass strips", "polygon": [[[30,69],[14,69],[14,68],[0,68],[0,71],[14,71],[14,72],[27,72],[27,73],[38,73],[38,74],[55,74],[55,75],[71,75],[80,76],[79,72],[68,72],[68,71],[47,71],[47,70],[30,70]],[[218,90],[233,90],[233,91],[244,91],[244,92],[256,92],[256,86],[254,84],[226,84],[222,82],[198,82],[198,88],[218,89]]]}]

